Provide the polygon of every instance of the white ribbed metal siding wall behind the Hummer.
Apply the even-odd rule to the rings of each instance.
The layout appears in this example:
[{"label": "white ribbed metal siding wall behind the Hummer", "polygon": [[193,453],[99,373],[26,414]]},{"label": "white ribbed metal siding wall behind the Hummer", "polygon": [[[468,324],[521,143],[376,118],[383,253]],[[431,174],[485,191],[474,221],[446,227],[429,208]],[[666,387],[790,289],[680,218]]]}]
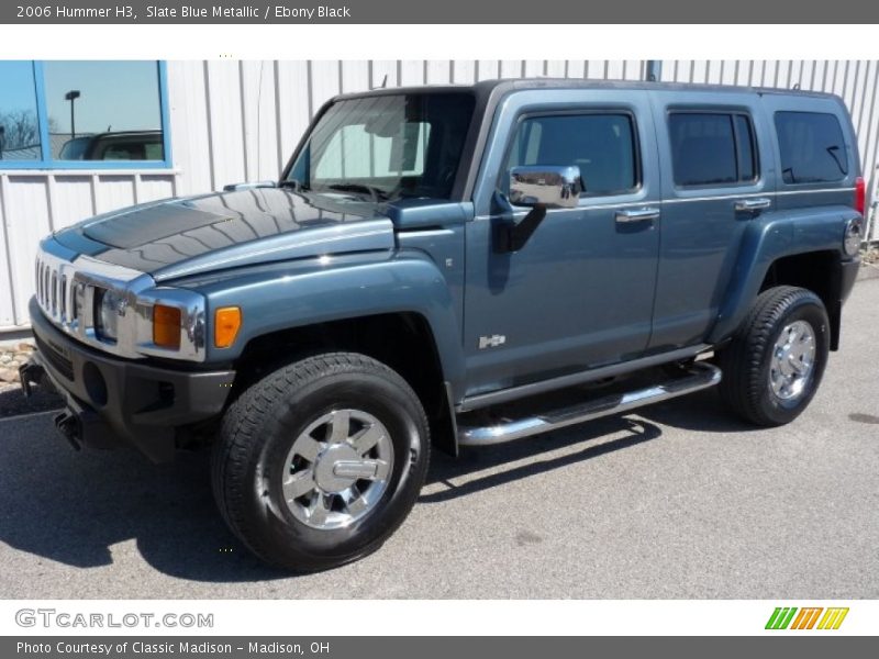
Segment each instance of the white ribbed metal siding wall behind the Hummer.
[{"label": "white ribbed metal siding wall behind the Hummer", "polygon": [[[168,63],[171,171],[0,170],[0,332],[24,327],[37,241],[96,213],[226,183],[272,179],[321,104],[340,92],[531,76],[643,79],[642,60]],[[876,185],[879,64],[874,60],[667,60],[661,80],[825,90],[845,99],[865,177]],[[879,232],[874,227],[874,236]]]}]

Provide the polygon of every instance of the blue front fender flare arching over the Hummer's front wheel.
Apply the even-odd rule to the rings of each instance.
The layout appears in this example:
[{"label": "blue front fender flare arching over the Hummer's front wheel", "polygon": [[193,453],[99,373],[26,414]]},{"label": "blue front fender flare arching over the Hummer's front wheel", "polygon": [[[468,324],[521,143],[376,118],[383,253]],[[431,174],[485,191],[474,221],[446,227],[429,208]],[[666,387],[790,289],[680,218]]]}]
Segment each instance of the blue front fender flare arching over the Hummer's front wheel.
[{"label": "blue front fender flare arching over the Hummer's front wheel", "polygon": [[[178,282],[179,284],[180,282]],[[448,283],[425,255],[410,252],[310,258],[182,282],[208,300],[208,362],[238,357],[265,334],[386,313],[418,313],[429,323],[446,381],[464,378],[459,313]],[[240,306],[242,331],[230,348],[211,345],[213,310]]]}]

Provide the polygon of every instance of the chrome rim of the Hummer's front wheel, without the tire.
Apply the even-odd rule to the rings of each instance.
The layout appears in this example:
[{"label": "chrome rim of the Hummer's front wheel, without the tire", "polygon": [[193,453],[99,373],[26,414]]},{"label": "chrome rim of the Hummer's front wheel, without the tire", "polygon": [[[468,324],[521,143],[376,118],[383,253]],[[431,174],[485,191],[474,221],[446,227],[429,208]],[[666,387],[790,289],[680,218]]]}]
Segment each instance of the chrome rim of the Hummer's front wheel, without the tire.
[{"label": "chrome rim of the Hummer's front wheel, without the tire", "polygon": [[334,410],[293,442],[282,472],[283,500],[311,528],[343,528],[376,506],[392,470],[385,425],[360,410]]}]

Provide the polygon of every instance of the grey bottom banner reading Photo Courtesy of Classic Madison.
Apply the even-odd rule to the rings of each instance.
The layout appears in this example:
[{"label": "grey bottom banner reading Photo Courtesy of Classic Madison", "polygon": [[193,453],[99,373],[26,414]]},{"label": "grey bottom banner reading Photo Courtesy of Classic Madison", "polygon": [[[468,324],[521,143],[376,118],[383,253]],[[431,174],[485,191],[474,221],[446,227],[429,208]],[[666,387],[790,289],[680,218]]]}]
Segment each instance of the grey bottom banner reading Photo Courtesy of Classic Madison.
[{"label": "grey bottom banner reading Photo Courtesy of Classic Madison", "polygon": [[[611,656],[867,657],[876,639],[856,636],[788,635],[764,637],[3,637],[0,656],[7,659],[145,659],[211,657],[212,659],[583,659]],[[671,655],[674,652],[674,655]]]}]

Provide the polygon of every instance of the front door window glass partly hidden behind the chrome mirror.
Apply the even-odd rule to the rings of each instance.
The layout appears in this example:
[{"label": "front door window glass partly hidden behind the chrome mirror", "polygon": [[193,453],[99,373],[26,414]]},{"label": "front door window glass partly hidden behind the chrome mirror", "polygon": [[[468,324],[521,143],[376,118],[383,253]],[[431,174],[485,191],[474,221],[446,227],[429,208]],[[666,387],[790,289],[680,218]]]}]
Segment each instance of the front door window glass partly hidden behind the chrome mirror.
[{"label": "front door window glass partly hidden behind the chrome mirror", "polygon": [[508,169],[520,165],[577,165],[587,196],[637,187],[634,125],[628,114],[533,116],[519,124]]}]

